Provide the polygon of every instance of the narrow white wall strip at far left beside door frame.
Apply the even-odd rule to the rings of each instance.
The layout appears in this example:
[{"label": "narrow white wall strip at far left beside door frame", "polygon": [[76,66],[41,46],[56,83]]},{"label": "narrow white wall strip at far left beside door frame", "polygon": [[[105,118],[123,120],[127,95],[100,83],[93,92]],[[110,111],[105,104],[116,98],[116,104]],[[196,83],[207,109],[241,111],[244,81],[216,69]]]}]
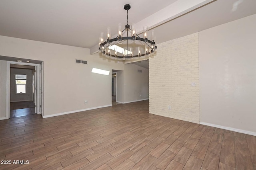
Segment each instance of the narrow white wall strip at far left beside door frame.
[{"label": "narrow white wall strip at far left beside door frame", "polygon": [[0,120],[6,117],[6,61],[0,60]]}]

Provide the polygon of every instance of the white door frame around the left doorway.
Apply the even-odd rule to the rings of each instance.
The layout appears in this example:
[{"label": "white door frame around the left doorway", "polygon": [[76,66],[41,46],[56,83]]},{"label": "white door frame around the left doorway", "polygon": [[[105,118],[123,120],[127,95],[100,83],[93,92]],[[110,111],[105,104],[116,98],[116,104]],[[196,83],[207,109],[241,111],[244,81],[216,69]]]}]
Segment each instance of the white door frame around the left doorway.
[{"label": "white door frame around the left doorway", "polygon": [[[10,118],[10,64],[18,64],[18,65],[28,65],[28,66],[35,66],[36,67],[36,114],[40,113],[40,64],[34,63],[22,63],[16,61],[6,61],[6,119]],[[42,87],[43,88],[43,87]],[[41,106],[43,107],[43,106]]]}]

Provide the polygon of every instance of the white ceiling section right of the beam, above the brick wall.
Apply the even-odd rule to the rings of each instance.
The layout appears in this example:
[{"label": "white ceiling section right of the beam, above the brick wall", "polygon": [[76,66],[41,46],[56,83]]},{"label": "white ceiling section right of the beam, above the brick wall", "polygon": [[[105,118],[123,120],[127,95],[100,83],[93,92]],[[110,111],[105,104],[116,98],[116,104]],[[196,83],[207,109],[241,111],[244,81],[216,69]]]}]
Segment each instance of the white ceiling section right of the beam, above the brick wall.
[{"label": "white ceiling section right of the beam, above the brick wall", "polygon": [[216,0],[154,28],[162,43],[256,14],[256,0]]}]

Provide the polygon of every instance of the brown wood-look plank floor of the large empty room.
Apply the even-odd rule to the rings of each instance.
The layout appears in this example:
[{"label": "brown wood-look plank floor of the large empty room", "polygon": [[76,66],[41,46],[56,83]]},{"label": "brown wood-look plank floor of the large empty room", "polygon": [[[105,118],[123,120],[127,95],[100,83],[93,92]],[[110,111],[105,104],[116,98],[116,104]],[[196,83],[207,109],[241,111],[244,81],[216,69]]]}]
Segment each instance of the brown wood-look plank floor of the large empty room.
[{"label": "brown wood-look plank floor of the large empty room", "polygon": [[255,170],[256,137],[148,113],[148,101],[0,121],[0,170]]}]

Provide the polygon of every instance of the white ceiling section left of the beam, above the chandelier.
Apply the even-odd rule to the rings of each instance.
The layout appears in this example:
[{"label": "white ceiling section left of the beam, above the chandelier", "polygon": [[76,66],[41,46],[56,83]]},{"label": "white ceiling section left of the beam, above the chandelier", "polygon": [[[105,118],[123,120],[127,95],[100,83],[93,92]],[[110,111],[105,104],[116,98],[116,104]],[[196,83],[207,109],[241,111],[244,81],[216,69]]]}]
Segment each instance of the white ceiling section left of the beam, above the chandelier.
[{"label": "white ceiling section left of the beam, above the chandelier", "polygon": [[0,35],[90,48],[107,26],[126,25],[126,2],[136,23],[175,1],[0,0]]}]

